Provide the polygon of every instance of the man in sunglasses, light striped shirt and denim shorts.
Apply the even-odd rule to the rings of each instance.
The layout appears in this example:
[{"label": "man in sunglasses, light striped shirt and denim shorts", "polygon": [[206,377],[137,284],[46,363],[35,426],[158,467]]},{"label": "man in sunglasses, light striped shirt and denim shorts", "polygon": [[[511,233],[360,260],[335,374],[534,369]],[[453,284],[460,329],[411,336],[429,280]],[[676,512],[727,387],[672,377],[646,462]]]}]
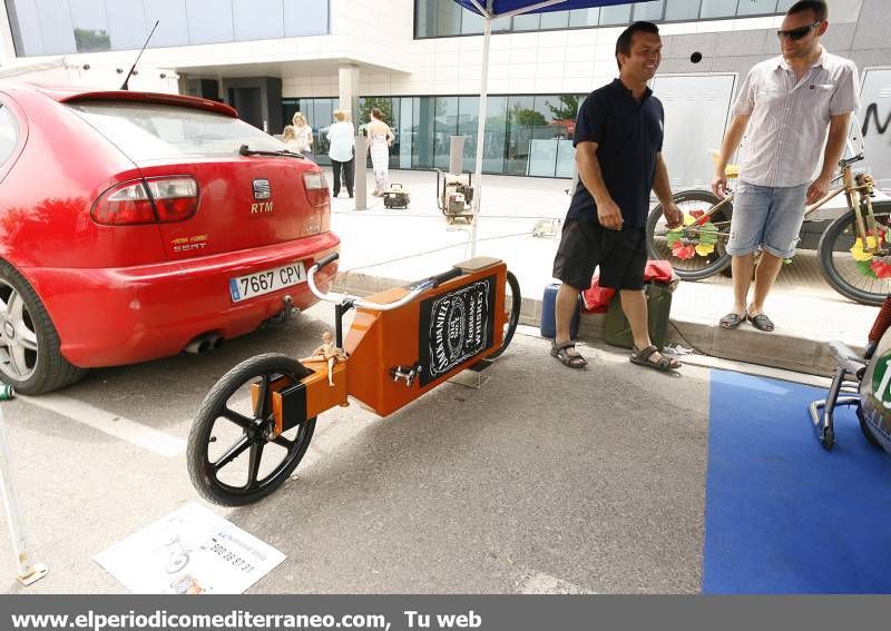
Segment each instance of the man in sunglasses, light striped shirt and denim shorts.
[{"label": "man in sunglasses, light striped shirt and denim shorts", "polygon": [[[795,2],[776,33],[782,55],[752,68],[733,106],[712,180],[712,189],[724,197],[727,161],[747,131],[727,243],[734,305],[721,318],[724,328],[736,328],[747,319],[760,331],[773,331],[764,302],[783,259],[795,254],[805,204],[826,195],[844,151],[860,88],[853,61],[830,55],[820,45],[826,18],[825,2]],[[821,150],[823,162],[814,177]],[[758,249],[762,256],[748,302]]]}]

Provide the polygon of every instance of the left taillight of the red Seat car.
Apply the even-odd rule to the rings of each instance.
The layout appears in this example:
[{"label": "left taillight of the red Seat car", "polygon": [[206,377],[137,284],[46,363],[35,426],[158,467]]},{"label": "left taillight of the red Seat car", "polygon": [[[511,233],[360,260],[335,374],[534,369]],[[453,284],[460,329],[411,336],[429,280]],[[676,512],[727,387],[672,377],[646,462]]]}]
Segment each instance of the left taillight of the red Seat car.
[{"label": "left taillight of the red Seat car", "polygon": [[190,177],[154,177],[109,188],[92,205],[97,224],[121,226],[182,221],[198,209],[198,183]]}]

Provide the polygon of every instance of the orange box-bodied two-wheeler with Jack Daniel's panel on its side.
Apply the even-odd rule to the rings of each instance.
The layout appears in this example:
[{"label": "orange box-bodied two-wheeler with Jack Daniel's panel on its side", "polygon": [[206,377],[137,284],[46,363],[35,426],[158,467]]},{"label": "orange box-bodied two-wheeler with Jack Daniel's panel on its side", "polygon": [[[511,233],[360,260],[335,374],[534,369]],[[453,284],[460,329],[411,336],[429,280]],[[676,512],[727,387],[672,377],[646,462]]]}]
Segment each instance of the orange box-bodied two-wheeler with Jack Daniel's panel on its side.
[{"label": "orange box-bodied two-wheeler with Jack Daniel's panel on its side", "polygon": [[[315,274],[336,259],[335,253],[314,263],[306,278],[313,294],[335,304],[331,353],[302,361],[256,355],[205,396],[186,459],[193,485],[209,502],[241,506],[275,491],[306,453],[317,416],[349,405],[347,397],[386,416],[468,367],[488,366],[513,338],[520,286],[497,258],[473,258],[368,298],[319,289]],[[344,341],[343,317],[353,308]]]}]

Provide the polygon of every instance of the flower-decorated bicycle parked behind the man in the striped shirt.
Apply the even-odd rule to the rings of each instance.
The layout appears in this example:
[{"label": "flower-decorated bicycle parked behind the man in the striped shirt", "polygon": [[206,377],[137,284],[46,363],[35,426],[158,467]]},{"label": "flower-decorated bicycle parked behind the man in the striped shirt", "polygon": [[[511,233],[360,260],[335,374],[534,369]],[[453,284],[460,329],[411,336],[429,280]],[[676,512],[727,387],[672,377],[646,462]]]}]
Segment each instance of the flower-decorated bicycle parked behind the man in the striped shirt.
[{"label": "flower-decorated bicycle parked behind the man in the striped shirt", "polygon": [[[804,216],[844,193],[848,211],[826,226],[817,244],[820,272],[846,298],[881,305],[891,288],[891,204],[877,204],[873,208],[872,177],[853,174],[851,169],[851,165],[862,159],[861,152],[839,161],[841,174],[832,185],[841,181],[841,186],[809,205]],[[738,177],[738,168],[731,165],[726,174],[728,179]],[[732,258],[726,245],[733,193],[721,199],[711,190],[684,190],[674,200],[684,213],[684,225],[669,230],[662,206],[656,206],[646,224],[649,257],[670,262],[678,277],[685,280],[702,280],[725,270]]]}]

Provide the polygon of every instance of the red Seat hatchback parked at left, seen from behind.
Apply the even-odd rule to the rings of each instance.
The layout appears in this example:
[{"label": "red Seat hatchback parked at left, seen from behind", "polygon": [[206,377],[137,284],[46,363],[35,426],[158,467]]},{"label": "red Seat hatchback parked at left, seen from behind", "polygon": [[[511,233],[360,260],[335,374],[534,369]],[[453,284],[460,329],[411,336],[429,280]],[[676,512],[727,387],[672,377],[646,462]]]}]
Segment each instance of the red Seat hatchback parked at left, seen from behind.
[{"label": "red Seat hatchback parked at left, seen from behind", "polygon": [[309,307],[330,214],[321,169],[225,105],[0,85],[0,378],[45,393]]}]

